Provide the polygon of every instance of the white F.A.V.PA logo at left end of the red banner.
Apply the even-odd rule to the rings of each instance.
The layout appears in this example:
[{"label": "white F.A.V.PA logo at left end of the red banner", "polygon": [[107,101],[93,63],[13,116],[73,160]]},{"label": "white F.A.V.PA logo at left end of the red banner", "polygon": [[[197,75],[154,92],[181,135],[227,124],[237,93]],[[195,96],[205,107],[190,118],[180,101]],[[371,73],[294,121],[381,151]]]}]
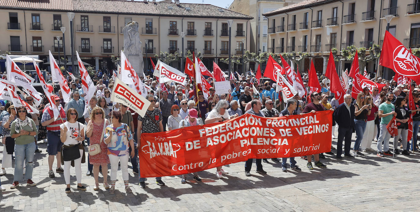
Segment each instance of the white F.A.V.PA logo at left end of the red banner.
[{"label": "white F.A.V.PA logo at left end of the red banner", "polygon": [[[157,143],[150,143],[150,141],[146,140],[147,145],[142,146],[142,151],[145,154],[150,154],[150,158],[156,156],[172,156],[176,158],[176,152],[181,149],[179,144],[172,143],[171,140],[166,141],[166,138],[155,137],[155,141],[157,141]],[[173,146],[177,148],[175,151],[173,150]]]}]

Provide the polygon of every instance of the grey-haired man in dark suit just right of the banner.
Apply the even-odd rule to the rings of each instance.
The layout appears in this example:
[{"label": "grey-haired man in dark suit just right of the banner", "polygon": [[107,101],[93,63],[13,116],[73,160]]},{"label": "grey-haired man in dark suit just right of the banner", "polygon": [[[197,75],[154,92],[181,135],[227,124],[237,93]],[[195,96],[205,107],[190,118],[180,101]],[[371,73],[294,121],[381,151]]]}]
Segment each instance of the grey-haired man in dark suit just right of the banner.
[{"label": "grey-haired man in dark suit just right of the banner", "polygon": [[354,158],[350,154],[350,145],[352,143],[352,133],[354,127],[354,105],[352,104],[352,95],[344,95],[344,103],[339,105],[334,110],[333,116],[336,123],[339,125],[339,135],[337,138],[337,158],[341,159],[343,152],[344,140],[344,156]]}]

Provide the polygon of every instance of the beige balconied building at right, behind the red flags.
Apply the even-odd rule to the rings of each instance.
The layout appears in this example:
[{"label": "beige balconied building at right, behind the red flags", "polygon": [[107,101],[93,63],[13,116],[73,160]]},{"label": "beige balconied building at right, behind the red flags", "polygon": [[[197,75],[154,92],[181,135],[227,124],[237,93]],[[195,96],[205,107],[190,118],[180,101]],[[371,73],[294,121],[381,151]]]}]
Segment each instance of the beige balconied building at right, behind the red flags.
[{"label": "beige balconied building at right, behind the red flags", "polygon": [[[325,72],[331,48],[338,54],[347,46],[381,45],[386,16],[393,17],[389,31],[407,48],[419,48],[420,0],[304,0],[264,14],[268,18],[268,48],[273,53],[308,52],[317,72]],[[364,52],[369,54],[368,51]],[[362,54],[362,53],[359,53]],[[337,63],[349,69],[352,61]],[[392,70],[382,69],[378,60],[367,63],[367,71],[390,79]],[[309,69],[305,59],[299,71]]]}]

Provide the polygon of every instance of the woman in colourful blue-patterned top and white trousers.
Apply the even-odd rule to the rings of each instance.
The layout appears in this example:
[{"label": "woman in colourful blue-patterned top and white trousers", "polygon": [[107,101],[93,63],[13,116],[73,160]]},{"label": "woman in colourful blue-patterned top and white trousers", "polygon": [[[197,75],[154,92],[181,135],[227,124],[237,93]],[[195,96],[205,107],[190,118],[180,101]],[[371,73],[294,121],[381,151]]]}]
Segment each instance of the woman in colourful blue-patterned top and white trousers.
[{"label": "woman in colourful blue-patterned top and white trousers", "polygon": [[[111,163],[111,189],[109,194],[115,192],[115,181],[117,180],[118,162],[121,164],[123,181],[127,193],[133,193],[129,187],[129,147],[134,149],[134,137],[130,128],[125,123],[121,123],[121,112],[110,112],[112,124],[105,129],[104,142],[108,144],[108,157]],[[134,158],[135,152],[131,151],[130,158]]]}]

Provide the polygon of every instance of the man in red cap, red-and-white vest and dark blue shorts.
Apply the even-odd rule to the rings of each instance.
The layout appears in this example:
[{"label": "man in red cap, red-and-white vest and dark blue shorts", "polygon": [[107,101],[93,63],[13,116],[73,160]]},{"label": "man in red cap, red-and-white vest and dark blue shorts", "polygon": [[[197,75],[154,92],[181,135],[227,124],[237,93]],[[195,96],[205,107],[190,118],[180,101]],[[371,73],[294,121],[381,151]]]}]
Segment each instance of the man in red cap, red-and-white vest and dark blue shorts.
[{"label": "man in red cap, red-and-white vest and dark blue shorts", "polygon": [[53,163],[54,156],[57,157],[57,169],[55,172],[64,173],[63,168],[61,168],[61,153],[60,149],[63,146],[60,140],[60,125],[66,122],[66,111],[60,105],[60,97],[53,95],[52,98],[55,100],[55,105],[58,107],[60,115],[57,120],[54,120],[53,108],[50,104],[45,105],[44,112],[42,113],[41,124],[42,126],[47,127],[47,152],[48,152],[48,176],[51,178],[54,176]]}]

